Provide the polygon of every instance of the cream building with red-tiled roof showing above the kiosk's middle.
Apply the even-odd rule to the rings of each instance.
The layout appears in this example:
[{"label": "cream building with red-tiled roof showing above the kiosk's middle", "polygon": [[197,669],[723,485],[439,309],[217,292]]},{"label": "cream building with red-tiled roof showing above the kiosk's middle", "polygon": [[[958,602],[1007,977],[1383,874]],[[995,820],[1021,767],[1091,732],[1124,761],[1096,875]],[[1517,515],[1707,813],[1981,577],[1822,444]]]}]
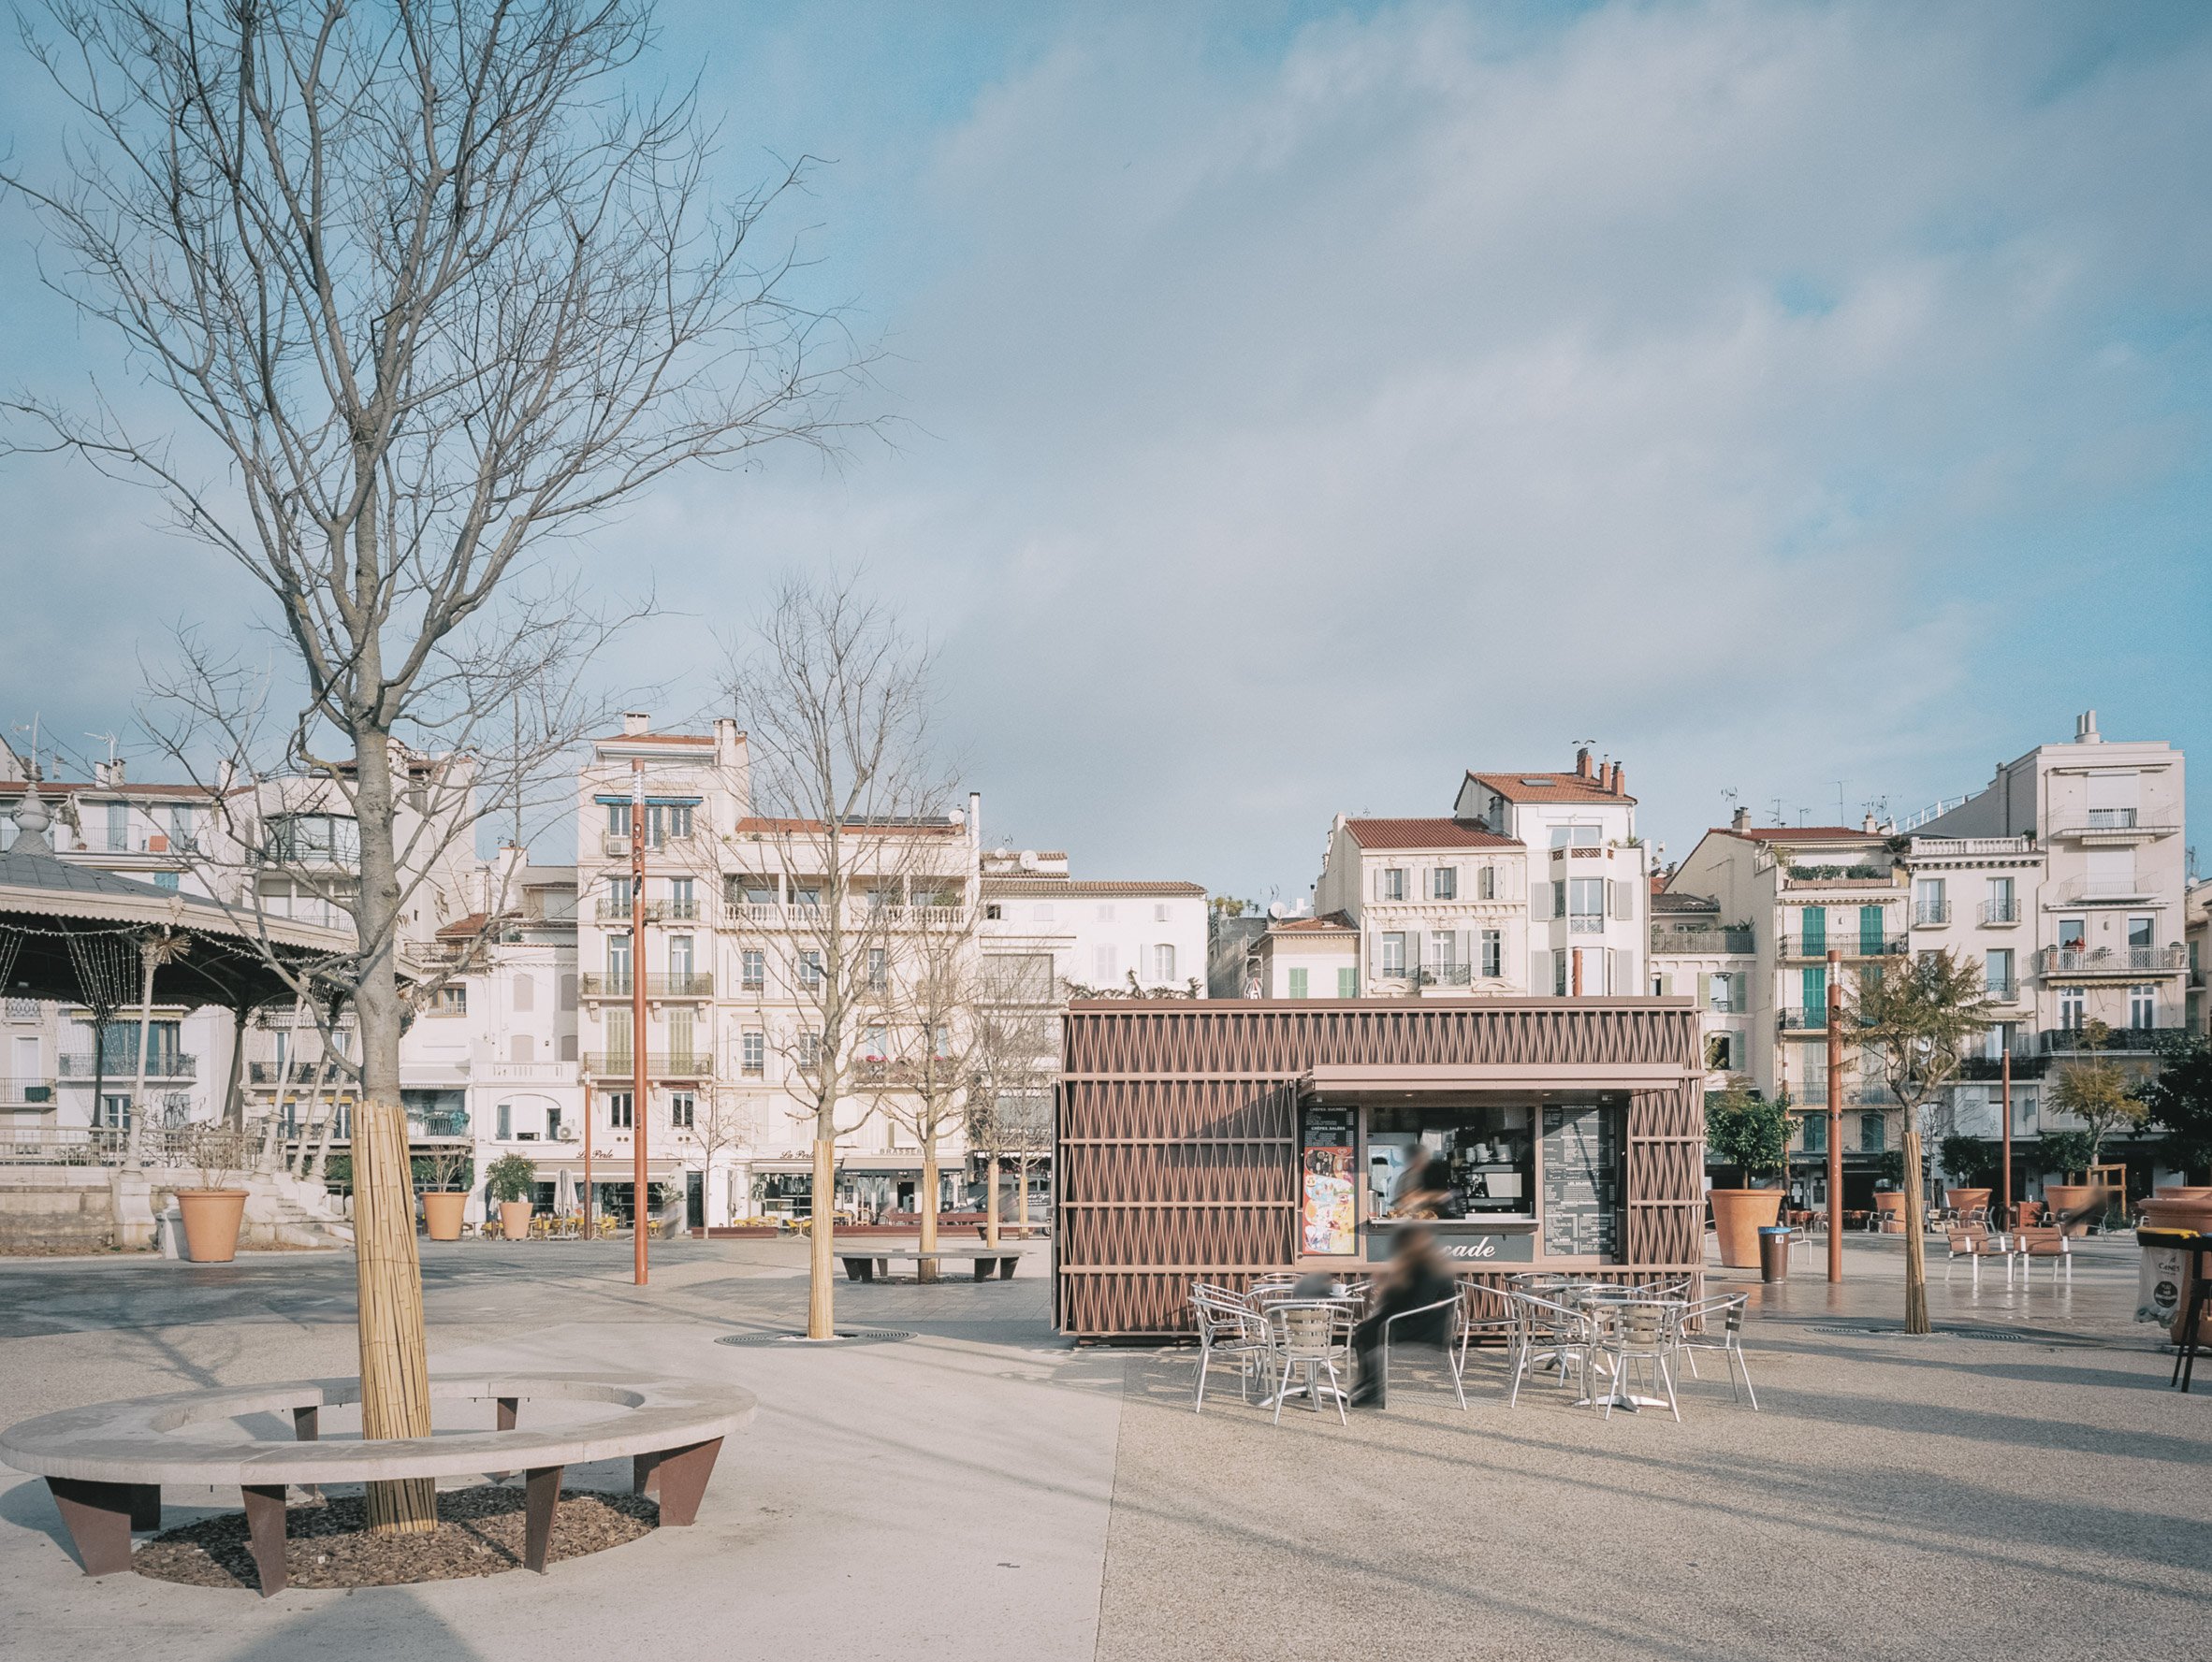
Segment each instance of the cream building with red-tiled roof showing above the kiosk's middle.
[{"label": "cream building with red-tiled roof showing above the kiosk's middle", "polygon": [[[1577,891],[1579,895],[1579,891]],[[1548,900],[1544,911],[1548,913]],[[1285,988],[1303,972],[1303,995],[1283,997],[1420,997],[1522,992],[1531,964],[1528,849],[1478,820],[1336,816],[1314,882],[1316,919],[1352,930],[1358,961],[1296,961],[1270,928],[1267,957]],[[1303,930],[1312,946],[1325,935]],[[1334,983],[1314,983],[1316,968]]]}]

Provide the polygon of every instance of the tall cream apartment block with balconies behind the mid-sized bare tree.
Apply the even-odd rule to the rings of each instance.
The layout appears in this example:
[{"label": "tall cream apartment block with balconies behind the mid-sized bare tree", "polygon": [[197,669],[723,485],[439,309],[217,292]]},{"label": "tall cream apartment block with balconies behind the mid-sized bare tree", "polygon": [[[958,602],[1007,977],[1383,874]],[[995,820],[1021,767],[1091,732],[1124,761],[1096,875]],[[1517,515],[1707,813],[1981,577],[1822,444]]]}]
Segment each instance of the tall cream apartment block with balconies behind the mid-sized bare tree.
[{"label": "tall cream apartment block with balconies behind the mid-sized bare tree", "polygon": [[[630,802],[644,804],[644,939],[633,942]],[[856,1132],[841,1143],[836,1205],[909,1211],[922,1149],[898,1125],[902,977],[925,942],[975,926],[980,800],[942,820],[847,827],[838,939],[863,1010],[847,1025]],[[752,813],[745,736],[657,734],[646,714],[597,738],[577,774],[577,964],[586,1129],[602,1205],[630,1205],[633,1138],[648,1180],[688,1196],[695,1224],[805,1211],[830,939],[830,846],[821,824]],[[633,975],[646,977],[635,1030]],[[644,1054],[646,1101],[635,1101]],[[938,1202],[958,1198],[964,1145],[940,1140]],[[597,1163],[608,1163],[602,1176]],[[613,1171],[624,1176],[615,1178]]]}]

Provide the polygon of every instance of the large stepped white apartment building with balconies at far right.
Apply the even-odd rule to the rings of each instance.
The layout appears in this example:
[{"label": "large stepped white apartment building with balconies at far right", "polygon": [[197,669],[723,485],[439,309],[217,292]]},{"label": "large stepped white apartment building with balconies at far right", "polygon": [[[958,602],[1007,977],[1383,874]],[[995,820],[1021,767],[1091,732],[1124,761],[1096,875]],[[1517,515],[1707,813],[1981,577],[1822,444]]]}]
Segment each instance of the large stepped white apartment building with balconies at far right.
[{"label": "large stepped white apartment building with balconies at far right", "polygon": [[2042,1085],[2090,1023],[2137,1072],[2154,1067],[2161,1034],[2188,1025],[2183,800],[2179,749],[2108,740],[2088,709],[2070,740],[1997,765],[1982,791],[1913,829],[1911,946],[1980,964],[2002,1017],[1938,1129],[1997,1136],[2006,1050],[2013,1134],[2075,1129]]}]

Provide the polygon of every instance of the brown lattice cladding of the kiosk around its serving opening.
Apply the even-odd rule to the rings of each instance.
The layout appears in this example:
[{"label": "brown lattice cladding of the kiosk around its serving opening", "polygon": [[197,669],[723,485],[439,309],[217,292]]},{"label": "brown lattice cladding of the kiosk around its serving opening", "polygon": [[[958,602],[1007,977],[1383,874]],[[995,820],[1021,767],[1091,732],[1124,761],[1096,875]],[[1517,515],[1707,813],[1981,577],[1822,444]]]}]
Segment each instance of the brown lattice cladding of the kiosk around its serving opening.
[{"label": "brown lattice cladding of the kiosk around its serving opening", "polygon": [[[1703,1056],[1688,999],[1099,999],[1068,1008],[1060,1081],[1053,1324],[1172,1337],[1190,1282],[1298,1262],[1298,1092],[1316,1067],[1528,1067],[1679,1079],[1626,1092],[1621,1262],[1703,1264]],[[1524,1266],[1515,1266],[1524,1269]],[[1495,1280],[1509,1269],[1464,1269]]]}]

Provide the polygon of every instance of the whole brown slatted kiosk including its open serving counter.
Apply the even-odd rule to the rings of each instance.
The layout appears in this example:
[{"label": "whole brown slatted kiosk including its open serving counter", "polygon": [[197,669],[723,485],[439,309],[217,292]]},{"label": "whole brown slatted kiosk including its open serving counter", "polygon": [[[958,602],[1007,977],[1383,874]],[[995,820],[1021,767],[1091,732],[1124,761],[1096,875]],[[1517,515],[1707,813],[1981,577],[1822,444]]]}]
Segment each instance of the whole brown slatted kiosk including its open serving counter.
[{"label": "whole brown slatted kiosk including its open serving counter", "polygon": [[1688,999],[1077,1003],[1055,1319],[1186,1326],[1192,1280],[1369,1269],[1409,1224],[1467,1275],[1703,1262]]}]

